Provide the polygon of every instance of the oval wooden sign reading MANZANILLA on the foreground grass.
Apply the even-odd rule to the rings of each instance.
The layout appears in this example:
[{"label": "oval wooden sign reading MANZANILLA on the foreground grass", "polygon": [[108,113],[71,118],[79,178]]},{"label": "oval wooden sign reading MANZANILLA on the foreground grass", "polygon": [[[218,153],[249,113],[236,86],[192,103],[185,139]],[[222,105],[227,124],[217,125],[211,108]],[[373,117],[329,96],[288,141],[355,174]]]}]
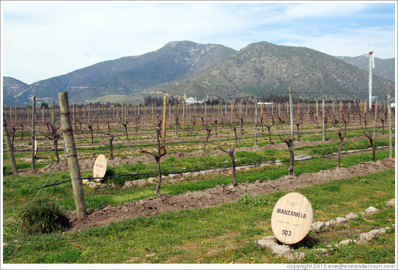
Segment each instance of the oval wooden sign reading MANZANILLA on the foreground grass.
[{"label": "oval wooden sign reading MANZANILLA on the foreground grass", "polygon": [[303,239],[311,228],[312,205],[297,192],[291,192],[275,204],[271,217],[274,236],[284,244],[295,244]]}]

